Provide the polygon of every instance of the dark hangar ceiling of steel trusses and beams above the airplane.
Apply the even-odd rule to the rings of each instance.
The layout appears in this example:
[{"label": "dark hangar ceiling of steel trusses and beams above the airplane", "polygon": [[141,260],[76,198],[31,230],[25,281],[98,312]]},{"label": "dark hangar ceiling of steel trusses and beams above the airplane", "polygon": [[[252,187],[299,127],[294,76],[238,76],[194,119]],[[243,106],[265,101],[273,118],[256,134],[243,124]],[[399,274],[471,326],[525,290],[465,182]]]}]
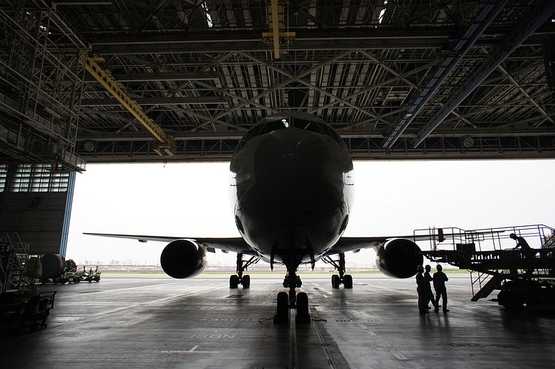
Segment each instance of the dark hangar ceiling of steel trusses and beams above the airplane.
[{"label": "dark hangar ceiling of steel trusses and beams above the airplane", "polygon": [[226,161],[284,110],[359,160],[555,157],[555,1],[0,4],[0,162]]}]

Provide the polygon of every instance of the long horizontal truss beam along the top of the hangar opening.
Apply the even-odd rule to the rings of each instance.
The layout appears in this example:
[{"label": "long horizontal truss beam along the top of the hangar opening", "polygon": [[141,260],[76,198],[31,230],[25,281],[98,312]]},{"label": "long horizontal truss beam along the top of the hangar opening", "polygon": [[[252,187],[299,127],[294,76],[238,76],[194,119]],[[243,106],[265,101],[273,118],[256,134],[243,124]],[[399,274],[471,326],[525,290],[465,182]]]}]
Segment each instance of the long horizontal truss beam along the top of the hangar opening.
[{"label": "long horizontal truss beam along the top of the hangar opening", "polygon": [[[485,159],[553,159],[555,135],[529,137],[484,136],[475,138],[470,148],[462,146],[463,137],[428,137],[421,147],[413,148],[409,138],[402,138],[391,149],[381,147],[381,137],[345,138],[355,160],[485,160]],[[198,139],[178,141],[175,162],[229,162],[239,139]],[[87,162],[165,162],[152,154],[152,141],[96,141],[94,150],[78,153]]]}]

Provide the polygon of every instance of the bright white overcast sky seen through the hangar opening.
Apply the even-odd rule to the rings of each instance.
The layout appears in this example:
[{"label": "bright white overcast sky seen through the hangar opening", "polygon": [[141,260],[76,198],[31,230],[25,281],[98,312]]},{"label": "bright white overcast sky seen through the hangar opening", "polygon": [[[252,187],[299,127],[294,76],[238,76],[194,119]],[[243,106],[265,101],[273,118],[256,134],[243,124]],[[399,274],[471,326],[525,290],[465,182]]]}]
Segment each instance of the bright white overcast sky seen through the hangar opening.
[{"label": "bright white overcast sky seen through the hangar opening", "polygon": [[[344,236],[555,226],[555,160],[355,162],[355,199]],[[78,173],[67,259],[156,265],[166,243],[83,232],[239,237],[229,198],[229,163],[89,164]],[[371,266],[373,250],[349,262]],[[234,265],[235,255],[207,255]],[[261,261],[262,263],[262,261]]]}]

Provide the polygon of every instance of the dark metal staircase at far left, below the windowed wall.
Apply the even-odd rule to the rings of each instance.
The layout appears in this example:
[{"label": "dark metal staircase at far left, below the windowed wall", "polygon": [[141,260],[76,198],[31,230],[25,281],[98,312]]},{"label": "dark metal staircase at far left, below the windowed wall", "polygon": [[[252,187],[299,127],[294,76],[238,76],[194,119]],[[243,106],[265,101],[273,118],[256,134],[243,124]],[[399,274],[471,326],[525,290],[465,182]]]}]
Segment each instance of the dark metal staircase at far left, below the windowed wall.
[{"label": "dark metal staircase at far left, below the windowed wall", "polygon": [[0,293],[24,293],[31,288],[31,279],[23,275],[28,250],[19,234],[0,234]]}]

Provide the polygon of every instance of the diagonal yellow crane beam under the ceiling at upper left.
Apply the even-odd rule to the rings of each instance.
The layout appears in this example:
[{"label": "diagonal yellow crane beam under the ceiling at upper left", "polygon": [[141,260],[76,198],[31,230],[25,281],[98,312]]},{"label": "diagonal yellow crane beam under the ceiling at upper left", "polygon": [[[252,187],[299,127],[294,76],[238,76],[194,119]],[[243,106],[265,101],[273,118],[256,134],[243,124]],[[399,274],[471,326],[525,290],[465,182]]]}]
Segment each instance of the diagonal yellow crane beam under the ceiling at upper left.
[{"label": "diagonal yellow crane beam under the ceiling at upper left", "polygon": [[139,121],[144,128],[154,136],[154,151],[160,156],[173,156],[176,154],[176,140],[160,127],[153,119],[148,117],[141,105],[130,98],[123,90],[123,86],[108,71],[102,69],[96,62],[103,61],[103,58],[92,58],[86,51],[80,53],[79,62],[85,69],[98,80],[103,87],[116,98],[123,108],[126,108],[133,117]]}]

